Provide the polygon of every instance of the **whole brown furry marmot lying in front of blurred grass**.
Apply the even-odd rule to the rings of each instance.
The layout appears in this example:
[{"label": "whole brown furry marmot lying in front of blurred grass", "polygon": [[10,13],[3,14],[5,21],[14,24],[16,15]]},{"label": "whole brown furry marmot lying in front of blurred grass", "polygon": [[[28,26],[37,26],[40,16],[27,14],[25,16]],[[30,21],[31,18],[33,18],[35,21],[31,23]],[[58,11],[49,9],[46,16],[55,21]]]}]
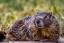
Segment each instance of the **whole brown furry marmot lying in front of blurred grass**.
[{"label": "whole brown furry marmot lying in front of blurred grass", "polygon": [[37,12],[17,20],[7,32],[7,38],[14,37],[18,41],[57,41],[60,36],[60,25],[51,12]]}]

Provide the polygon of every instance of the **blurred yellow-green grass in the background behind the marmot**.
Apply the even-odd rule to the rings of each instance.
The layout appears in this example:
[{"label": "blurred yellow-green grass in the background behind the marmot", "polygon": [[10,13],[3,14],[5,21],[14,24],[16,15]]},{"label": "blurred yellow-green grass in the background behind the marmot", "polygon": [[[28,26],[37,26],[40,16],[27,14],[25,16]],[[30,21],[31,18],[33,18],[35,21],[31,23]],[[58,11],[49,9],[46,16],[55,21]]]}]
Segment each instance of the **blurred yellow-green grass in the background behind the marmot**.
[{"label": "blurred yellow-green grass in the background behind the marmot", "polygon": [[36,11],[53,12],[64,29],[64,0],[0,0],[0,30],[8,30],[16,19]]}]

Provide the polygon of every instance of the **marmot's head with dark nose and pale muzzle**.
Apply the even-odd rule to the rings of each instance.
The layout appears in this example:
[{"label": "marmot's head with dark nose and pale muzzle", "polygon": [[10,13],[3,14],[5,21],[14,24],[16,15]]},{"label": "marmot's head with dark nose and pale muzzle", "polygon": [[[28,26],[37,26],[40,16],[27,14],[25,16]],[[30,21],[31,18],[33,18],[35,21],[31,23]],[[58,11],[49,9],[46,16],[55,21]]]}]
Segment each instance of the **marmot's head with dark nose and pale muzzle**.
[{"label": "marmot's head with dark nose and pale muzzle", "polygon": [[49,26],[52,23],[52,12],[37,12],[34,24],[37,28]]}]

